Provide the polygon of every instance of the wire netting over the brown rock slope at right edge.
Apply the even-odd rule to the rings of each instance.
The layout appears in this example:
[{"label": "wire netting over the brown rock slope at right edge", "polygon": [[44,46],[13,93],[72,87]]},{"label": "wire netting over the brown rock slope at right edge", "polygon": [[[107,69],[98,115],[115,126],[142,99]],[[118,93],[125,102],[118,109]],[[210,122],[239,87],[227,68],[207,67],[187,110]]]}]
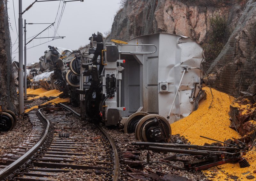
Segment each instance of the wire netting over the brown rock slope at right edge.
[{"label": "wire netting over the brown rock slope at right edge", "polygon": [[234,97],[256,83],[256,2],[248,1],[235,29],[207,70],[209,84]]}]

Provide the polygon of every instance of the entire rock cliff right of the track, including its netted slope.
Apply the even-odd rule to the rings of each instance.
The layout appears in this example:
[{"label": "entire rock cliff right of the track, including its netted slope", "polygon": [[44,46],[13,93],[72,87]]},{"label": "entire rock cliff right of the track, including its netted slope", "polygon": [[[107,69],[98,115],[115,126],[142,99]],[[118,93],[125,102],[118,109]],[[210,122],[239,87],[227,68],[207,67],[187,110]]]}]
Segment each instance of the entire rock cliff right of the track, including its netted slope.
[{"label": "entire rock cliff right of the track, including its netted slope", "polygon": [[206,83],[238,97],[256,79],[255,10],[255,0],[127,0],[106,40],[158,32],[191,37],[204,48]]}]

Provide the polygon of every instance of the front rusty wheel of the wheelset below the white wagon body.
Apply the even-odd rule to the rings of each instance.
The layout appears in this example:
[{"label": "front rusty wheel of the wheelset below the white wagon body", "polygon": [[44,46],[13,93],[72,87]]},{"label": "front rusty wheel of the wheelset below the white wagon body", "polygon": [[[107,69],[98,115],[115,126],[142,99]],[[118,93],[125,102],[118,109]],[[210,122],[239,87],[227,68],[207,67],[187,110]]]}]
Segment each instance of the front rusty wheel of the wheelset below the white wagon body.
[{"label": "front rusty wheel of the wheelset below the white wagon body", "polygon": [[172,135],[170,123],[158,114],[144,116],[135,129],[135,137],[144,142],[169,142]]}]

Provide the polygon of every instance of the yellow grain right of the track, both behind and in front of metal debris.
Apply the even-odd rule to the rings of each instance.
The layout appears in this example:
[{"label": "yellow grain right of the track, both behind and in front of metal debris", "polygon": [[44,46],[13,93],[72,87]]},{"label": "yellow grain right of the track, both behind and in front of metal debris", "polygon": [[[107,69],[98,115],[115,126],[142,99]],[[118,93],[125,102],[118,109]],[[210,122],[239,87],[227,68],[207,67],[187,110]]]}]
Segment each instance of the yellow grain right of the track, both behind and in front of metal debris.
[{"label": "yellow grain right of the track, both behind and in front of metal debris", "polygon": [[[210,88],[205,87],[203,90],[207,94],[206,100],[202,100],[199,103],[198,109],[189,116],[171,124],[172,134],[184,135],[191,143],[198,145],[214,142],[201,138],[200,135],[220,141],[231,137],[239,138],[240,135],[235,130],[229,128],[229,105],[234,98],[212,89],[212,102]],[[209,108],[210,105],[211,107]],[[250,151],[244,157],[251,164],[250,167],[240,168],[239,163],[227,163],[204,170],[203,172],[213,181],[234,180],[233,178],[235,177],[233,176],[238,177],[236,180],[244,181],[249,180],[246,178],[249,175],[256,177],[256,174],[253,173],[256,172],[256,150]]]}]

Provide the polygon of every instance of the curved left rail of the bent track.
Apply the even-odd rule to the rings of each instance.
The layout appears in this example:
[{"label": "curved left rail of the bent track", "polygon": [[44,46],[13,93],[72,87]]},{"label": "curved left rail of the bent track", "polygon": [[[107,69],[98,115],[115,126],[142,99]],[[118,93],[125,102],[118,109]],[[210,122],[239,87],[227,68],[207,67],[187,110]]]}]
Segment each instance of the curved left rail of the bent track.
[{"label": "curved left rail of the bent track", "polygon": [[[43,109],[43,108],[41,108]],[[43,117],[43,119],[47,122],[47,127],[45,129],[44,135],[42,138],[31,148],[26,152],[23,156],[21,156],[19,159],[5,167],[3,170],[0,171],[0,180],[3,180],[5,177],[8,177],[10,174],[12,174],[13,171],[17,170],[21,165],[26,163],[33,154],[36,153],[36,151],[41,147],[47,137],[49,127],[50,127],[50,122],[49,120],[44,116],[44,114],[41,112],[41,109],[38,109],[38,112],[40,115]]]}]

